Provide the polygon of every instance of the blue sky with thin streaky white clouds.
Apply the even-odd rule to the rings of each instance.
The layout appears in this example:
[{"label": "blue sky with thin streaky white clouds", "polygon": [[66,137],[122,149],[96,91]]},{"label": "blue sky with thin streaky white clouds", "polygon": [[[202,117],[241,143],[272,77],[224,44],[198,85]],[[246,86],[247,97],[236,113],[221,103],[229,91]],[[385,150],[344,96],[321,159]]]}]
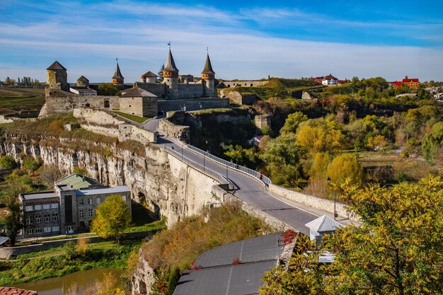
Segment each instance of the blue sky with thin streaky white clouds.
[{"label": "blue sky with thin streaky white clouds", "polygon": [[180,74],[218,79],[382,76],[443,81],[442,1],[0,0],[0,80],[125,83],[157,73],[168,42]]}]

